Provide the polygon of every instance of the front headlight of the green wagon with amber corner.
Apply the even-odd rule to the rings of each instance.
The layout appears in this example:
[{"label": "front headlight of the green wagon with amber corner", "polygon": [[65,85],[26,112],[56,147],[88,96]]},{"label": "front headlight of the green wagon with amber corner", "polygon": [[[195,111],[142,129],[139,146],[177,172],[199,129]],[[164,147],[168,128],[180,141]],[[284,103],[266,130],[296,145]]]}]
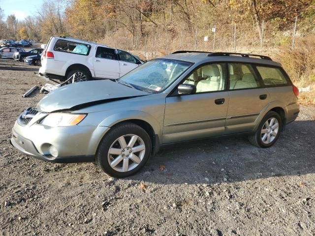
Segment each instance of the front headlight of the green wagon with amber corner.
[{"label": "front headlight of the green wagon with amber corner", "polygon": [[51,127],[70,126],[80,123],[87,114],[52,113],[45,117],[41,123]]}]

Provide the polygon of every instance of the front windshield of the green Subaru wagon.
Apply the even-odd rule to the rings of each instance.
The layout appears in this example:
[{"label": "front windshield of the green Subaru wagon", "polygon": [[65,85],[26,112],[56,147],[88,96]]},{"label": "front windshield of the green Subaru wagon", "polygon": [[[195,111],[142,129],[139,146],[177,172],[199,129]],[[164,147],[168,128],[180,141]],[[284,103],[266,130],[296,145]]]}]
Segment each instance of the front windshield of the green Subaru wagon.
[{"label": "front windshield of the green Subaru wagon", "polygon": [[192,63],[172,59],[154,59],[130,71],[118,80],[135,89],[158,93],[171,85]]}]

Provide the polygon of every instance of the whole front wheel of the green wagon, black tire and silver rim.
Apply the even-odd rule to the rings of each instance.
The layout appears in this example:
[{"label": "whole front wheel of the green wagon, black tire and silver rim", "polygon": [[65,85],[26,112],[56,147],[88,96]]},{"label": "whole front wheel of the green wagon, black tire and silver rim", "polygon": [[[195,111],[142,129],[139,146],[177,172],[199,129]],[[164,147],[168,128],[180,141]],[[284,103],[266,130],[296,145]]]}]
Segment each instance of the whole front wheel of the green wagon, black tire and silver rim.
[{"label": "whole front wheel of the green wagon, black tire and silver rim", "polygon": [[[122,137],[126,141],[123,148]],[[134,123],[123,123],[104,136],[96,152],[96,163],[109,176],[127,177],[147,163],[151,150],[150,136],[143,128]]]}]

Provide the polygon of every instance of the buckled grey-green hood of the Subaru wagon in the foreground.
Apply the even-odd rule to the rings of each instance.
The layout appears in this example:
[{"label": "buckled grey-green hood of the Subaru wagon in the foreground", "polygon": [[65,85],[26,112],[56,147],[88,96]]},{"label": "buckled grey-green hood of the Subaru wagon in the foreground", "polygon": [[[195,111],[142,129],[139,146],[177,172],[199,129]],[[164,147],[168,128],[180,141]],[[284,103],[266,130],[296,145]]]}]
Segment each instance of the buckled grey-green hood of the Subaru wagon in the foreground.
[{"label": "buckled grey-green hood of the Subaru wagon in the foreground", "polygon": [[111,80],[78,82],[54,89],[37,104],[41,112],[75,111],[100,103],[151,93],[129,88]]}]

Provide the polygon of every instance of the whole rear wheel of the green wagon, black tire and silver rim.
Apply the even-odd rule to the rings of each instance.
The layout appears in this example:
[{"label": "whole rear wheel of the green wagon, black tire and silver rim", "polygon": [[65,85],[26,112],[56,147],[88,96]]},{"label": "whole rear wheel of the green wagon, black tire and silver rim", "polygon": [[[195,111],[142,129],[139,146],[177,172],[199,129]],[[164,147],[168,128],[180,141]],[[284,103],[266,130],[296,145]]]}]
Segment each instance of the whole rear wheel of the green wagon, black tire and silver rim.
[{"label": "whole rear wheel of the green wagon, black tire and silver rim", "polygon": [[[266,124],[267,121],[268,125]],[[273,122],[272,126],[270,128],[267,127],[271,122]],[[270,111],[262,118],[256,133],[249,136],[249,141],[256,147],[269,148],[277,142],[282,130],[283,123],[280,115]]]}]

